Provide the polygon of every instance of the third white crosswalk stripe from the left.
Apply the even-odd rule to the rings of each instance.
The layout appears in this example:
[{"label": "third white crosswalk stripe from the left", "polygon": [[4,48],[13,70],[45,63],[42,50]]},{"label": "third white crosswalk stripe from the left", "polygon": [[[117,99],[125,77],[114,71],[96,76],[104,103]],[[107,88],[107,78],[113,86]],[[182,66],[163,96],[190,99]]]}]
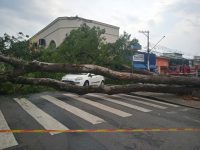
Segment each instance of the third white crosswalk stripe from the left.
[{"label": "third white crosswalk stripe from the left", "polygon": [[47,101],[67,110],[68,112],[71,112],[73,113],[74,115],[92,123],[92,124],[98,124],[98,123],[102,123],[102,122],[105,122],[105,120],[97,117],[97,116],[94,116],[88,112],[85,112],[77,107],[74,107],[72,105],[69,105],[55,97],[52,97],[52,96],[49,96],[49,95],[44,95],[44,96],[41,96],[42,98],[46,99]]}]

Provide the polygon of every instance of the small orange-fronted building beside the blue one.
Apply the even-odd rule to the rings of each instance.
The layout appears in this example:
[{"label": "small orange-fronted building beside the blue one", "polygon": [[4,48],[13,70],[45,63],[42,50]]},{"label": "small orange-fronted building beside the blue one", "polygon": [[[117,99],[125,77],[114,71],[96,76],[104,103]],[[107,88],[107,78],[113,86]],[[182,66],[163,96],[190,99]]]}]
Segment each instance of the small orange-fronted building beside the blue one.
[{"label": "small orange-fronted building beside the blue one", "polygon": [[156,68],[159,74],[166,74],[169,67],[169,58],[157,56]]}]

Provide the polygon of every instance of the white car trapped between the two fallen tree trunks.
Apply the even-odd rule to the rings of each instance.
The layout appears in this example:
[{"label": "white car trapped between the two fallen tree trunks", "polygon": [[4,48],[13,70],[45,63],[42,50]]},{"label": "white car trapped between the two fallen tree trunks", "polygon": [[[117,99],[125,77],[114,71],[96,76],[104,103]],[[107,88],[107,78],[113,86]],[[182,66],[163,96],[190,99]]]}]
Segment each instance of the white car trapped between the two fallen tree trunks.
[{"label": "white car trapped between the two fallen tree trunks", "polygon": [[103,86],[105,78],[92,73],[67,74],[62,77],[63,82],[78,86]]}]

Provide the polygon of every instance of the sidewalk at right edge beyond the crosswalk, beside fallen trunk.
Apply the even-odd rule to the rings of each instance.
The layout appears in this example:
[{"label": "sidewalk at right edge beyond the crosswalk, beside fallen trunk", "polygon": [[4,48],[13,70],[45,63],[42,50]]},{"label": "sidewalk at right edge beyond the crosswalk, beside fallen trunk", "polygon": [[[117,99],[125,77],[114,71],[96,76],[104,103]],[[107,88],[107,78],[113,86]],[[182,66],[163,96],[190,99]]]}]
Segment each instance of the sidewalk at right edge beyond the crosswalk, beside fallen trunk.
[{"label": "sidewalk at right edge beyond the crosswalk, beside fallen trunk", "polygon": [[168,94],[168,93],[153,93],[153,92],[133,92],[133,94],[157,99],[160,101],[166,101],[169,103],[180,104],[188,107],[193,107],[200,109],[200,101],[198,100],[191,100],[191,99],[183,99],[183,97],[175,94]]}]

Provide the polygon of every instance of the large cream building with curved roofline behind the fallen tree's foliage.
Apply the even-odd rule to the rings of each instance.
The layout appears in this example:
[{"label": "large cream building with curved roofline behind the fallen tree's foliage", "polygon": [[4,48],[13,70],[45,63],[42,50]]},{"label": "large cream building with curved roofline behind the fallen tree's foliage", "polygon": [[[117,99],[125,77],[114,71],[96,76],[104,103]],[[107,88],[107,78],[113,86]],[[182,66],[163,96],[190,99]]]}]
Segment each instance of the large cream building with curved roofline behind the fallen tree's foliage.
[{"label": "large cream building with curved roofline behind the fallen tree's foliage", "polygon": [[66,35],[69,35],[72,30],[79,28],[84,23],[89,27],[95,26],[100,29],[105,29],[103,36],[106,38],[107,43],[114,43],[119,38],[119,27],[117,26],[80,17],[58,17],[31,37],[30,41],[37,46],[42,45],[48,47],[51,43],[57,47],[63,42]]}]

